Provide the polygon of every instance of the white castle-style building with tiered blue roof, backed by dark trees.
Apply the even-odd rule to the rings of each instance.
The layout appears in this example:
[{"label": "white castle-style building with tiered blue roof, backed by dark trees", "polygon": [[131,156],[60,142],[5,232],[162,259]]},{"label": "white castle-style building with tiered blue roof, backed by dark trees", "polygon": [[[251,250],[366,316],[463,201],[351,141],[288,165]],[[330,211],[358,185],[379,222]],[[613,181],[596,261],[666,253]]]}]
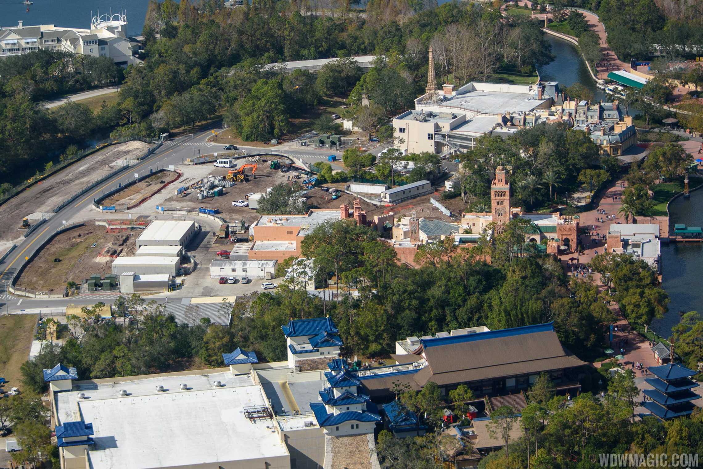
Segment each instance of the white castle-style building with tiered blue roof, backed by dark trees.
[{"label": "white castle-style building with tiered blue roof, backed by dark trees", "polygon": [[288,346],[288,366],[296,371],[323,370],[339,359],[344,345],[331,318],[295,319],[281,326]]}]

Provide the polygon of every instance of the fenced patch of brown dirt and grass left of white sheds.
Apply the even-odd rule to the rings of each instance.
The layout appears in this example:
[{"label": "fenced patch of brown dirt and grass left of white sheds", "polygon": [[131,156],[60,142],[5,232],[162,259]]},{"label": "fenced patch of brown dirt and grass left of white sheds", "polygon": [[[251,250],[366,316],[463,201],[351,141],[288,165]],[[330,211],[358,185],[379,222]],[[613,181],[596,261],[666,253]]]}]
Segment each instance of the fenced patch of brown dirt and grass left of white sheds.
[{"label": "fenced patch of brown dirt and grass left of white sheds", "polygon": [[[61,233],[27,266],[18,286],[61,291],[68,281],[81,283],[93,274],[110,274],[112,260],[117,255],[134,255],[139,233],[141,231],[108,233],[105,226],[98,225],[80,226]],[[54,262],[57,258],[61,261]],[[46,275],[48,271],[51,275]]]}]

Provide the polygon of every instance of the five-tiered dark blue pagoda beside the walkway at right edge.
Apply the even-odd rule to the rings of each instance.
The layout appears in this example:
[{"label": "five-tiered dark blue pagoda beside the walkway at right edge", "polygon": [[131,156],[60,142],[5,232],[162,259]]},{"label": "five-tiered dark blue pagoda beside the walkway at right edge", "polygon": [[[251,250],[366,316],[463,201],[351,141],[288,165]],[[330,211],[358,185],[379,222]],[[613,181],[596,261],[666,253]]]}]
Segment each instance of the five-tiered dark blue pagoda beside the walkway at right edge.
[{"label": "five-tiered dark blue pagoda beside the walkway at right edge", "polygon": [[657,378],[645,380],[654,387],[653,390],[643,391],[645,396],[651,399],[645,402],[645,409],[662,420],[690,415],[695,409],[692,401],[699,397],[691,390],[697,387],[698,383],[690,379],[697,371],[671,363],[650,366],[649,370]]}]

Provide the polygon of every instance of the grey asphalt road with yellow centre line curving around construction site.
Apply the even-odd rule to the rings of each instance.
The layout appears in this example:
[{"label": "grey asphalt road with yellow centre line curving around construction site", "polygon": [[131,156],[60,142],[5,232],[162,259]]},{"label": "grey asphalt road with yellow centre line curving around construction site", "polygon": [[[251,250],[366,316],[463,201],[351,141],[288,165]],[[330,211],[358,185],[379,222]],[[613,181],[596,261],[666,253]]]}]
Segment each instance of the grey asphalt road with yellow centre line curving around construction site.
[{"label": "grey asphalt road with yellow centre line curving around construction site", "polygon": [[[101,301],[105,303],[114,302],[115,298],[119,295],[79,295],[78,297],[66,297],[61,299],[34,299],[30,297],[15,296],[7,293],[6,288],[9,281],[13,277],[16,271],[22,266],[27,255],[32,253],[32,246],[41,245],[51,233],[59,229],[63,222],[70,223],[71,221],[80,221],[80,219],[74,219],[79,212],[86,209],[92,205],[93,200],[98,198],[101,194],[111,191],[124,185],[129,181],[134,180],[135,174],[142,176],[150,172],[150,170],[156,171],[167,165],[181,165],[184,158],[192,158],[195,153],[195,148],[201,148],[202,154],[212,153],[217,151],[225,143],[210,143],[207,142],[207,137],[212,135],[212,130],[218,130],[220,127],[213,126],[210,129],[198,134],[193,135],[186,134],[177,137],[176,139],[171,139],[166,141],[161,148],[156,150],[148,158],[145,158],[138,165],[127,169],[126,171],[116,174],[112,179],[103,182],[89,193],[81,195],[77,200],[68,204],[60,212],[53,214],[53,217],[49,218],[44,224],[39,226],[37,230],[32,233],[28,238],[20,243],[13,252],[5,259],[4,262],[0,264],[0,314],[9,313],[29,313],[37,312],[37,309],[52,309],[65,307],[67,304],[94,304],[95,302]],[[330,154],[330,150],[288,150],[285,148],[242,148],[243,150],[249,150],[250,153],[262,153],[266,150],[271,150],[274,152],[285,153],[289,155],[293,160],[301,162],[304,160],[313,164],[317,161],[327,160],[327,156]],[[333,150],[334,151],[334,150]],[[337,152],[334,152],[337,153]],[[99,212],[95,212],[94,218],[103,218],[104,216]],[[47,272],[47,275],[50,275]],[[158,302],[165,302],[165,298],[154,298]],[[180,297],[169,297],[167,299],[171,301],[181,301]]]}]

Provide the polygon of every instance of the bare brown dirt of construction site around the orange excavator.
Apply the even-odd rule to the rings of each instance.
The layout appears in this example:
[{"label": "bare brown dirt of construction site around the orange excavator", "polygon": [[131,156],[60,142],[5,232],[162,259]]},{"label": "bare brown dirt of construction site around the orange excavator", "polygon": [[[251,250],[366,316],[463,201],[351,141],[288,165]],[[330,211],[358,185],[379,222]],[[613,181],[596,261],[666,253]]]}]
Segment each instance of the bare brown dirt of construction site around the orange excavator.
[{"label": "bare brown dirt of construction site around the orange excavator", "polygon": [[[249,182],[238,182],[234,186],[224,188],[224,194],[219,197],[207,198],[204,200],[198,200],[198,191],[186,191],[185,196],[172,195],[172,197],[167,198],[163,205],[165,207],[186,207],[186,208],[198,208],[205,207],[210,209],[218,209],[220,214],[228,221],[234,221],[239,219],[244,219],[247,224],[252,223],[259,218],[256,210],[252,210],[249,207],[235,207],[232,205],[234,200],[243,199],[247,193],[254,192],[266,192],[266,189],[276,184],[282,182],[288,182],[288,177],[292,172],[282,173],[278,169],[270,169],[270,160],[267,162],[259,162],[257,164],[257,179],[250,177]],[[225,176],[228,169],[225,168],[213,168],[213,176]],[[247,174],[251,174],[251,169],[245,169]],[[297,179],[297,181],[302,181],[302,179]],[[195,179],[189,179],[186,173],[178,183],[174,183],[170,187],[188,186],[188,184],[195,183]],[[169,188],[165,191],[169,191]]]}]

